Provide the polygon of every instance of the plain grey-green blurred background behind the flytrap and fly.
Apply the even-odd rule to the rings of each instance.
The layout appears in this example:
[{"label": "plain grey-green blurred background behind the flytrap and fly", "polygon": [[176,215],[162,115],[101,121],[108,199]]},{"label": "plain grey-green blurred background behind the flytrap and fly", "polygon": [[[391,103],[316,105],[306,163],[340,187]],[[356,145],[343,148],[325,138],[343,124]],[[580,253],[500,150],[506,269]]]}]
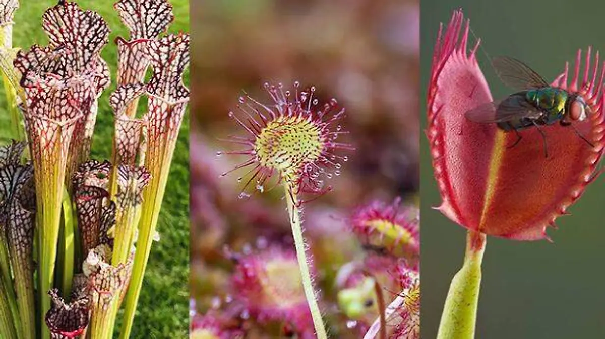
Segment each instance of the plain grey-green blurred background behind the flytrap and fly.
[{"label": "plain grey-green blurred background behind the flytrap and fly", "polygon": [[[422,98],[426,103],[431,55],[439,22],[461,7],[491,56],[523,60],[552,80],[578,48],[605,52],[598,1],[420,1]],[[473,38],[474,40],[474,38]],[[605,56],[605,54],[603,55]],[[479,60],[495,98],[509,93],[485,54]],[[425,128],[426,112],[421,111]],[[451,277],[460,268],[465,232],[431,206],[440,203],[426,138],[421,138],[422,338],[435,338]],[[521,147],[522,145],[520,145]],[[590,185],[569,217],[558,220],[546,241],[488,238],[476,338],[605,337],[605,177]]]}]

